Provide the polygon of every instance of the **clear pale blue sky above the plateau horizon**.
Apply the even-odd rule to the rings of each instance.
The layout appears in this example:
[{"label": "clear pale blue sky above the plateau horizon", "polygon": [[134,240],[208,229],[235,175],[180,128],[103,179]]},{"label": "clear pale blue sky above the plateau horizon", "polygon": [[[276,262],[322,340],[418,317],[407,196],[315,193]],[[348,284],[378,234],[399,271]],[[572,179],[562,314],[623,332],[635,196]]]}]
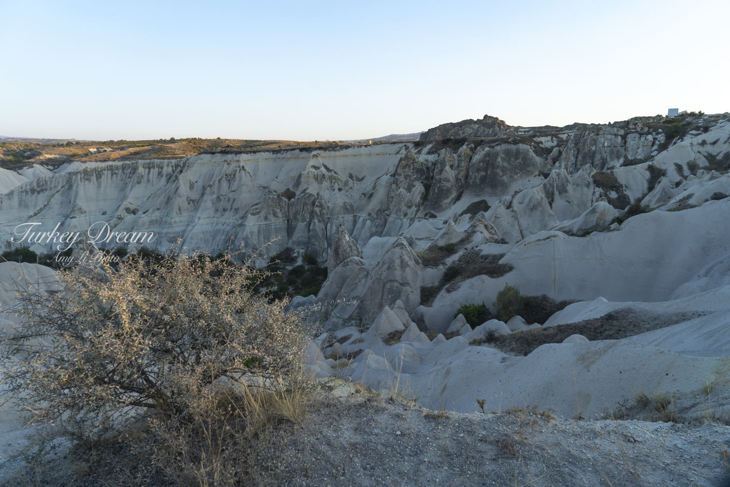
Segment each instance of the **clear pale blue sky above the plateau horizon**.
[{"label": "clear pale blue sky above the plateau horizon", "polygon": [[0,134],[356,139],[730,110],[723,1],[0,2]]}]

